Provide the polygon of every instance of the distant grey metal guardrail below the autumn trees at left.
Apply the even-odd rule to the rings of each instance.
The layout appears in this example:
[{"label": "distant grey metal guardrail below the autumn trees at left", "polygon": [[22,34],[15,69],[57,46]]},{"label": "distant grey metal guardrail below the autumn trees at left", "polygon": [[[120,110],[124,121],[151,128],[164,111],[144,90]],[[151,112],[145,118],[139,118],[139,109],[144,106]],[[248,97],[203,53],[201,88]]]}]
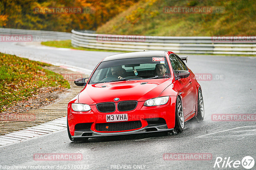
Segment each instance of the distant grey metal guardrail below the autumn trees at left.
[{"label": "distant grey metal guardrail below the autumn trees at left", "polygon": [[32,35],[33,41],[66,40],[71,39],[70,32],[21,30],[12,28],[0,28],[0,35]]}]

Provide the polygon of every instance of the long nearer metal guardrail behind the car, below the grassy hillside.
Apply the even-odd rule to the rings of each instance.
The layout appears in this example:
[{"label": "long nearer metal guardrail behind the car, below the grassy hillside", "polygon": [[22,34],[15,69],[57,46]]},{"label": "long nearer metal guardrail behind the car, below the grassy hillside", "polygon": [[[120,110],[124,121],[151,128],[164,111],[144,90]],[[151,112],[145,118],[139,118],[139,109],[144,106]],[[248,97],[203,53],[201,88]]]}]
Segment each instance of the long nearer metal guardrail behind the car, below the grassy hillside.
[{"label": "long nearer metal guardrail behind the car, below the grassy hillside", "polygon": [[198,54],[256,54],[255,37],[249,37],[249,40],[247,37],[247,41],[242,37],[240,41],[240,37],[162,37],[95,34],[75,30],[71,32],[72,45],[86,48],[120,51],[170,50],[175,53]]}]

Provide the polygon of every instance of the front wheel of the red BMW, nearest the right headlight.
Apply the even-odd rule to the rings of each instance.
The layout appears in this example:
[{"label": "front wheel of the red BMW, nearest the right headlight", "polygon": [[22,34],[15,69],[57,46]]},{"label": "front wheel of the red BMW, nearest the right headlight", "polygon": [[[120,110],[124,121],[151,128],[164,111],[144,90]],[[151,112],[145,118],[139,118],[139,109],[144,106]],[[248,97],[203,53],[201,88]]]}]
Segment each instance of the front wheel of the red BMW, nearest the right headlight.
[{"label": "front wheel of the red BMW, nearest the right headlight", "polygon": [[180,97],[176,99],[175,106],[175,126],[174,131],[177,133],[182,132],[184,129],[184,113]]}]

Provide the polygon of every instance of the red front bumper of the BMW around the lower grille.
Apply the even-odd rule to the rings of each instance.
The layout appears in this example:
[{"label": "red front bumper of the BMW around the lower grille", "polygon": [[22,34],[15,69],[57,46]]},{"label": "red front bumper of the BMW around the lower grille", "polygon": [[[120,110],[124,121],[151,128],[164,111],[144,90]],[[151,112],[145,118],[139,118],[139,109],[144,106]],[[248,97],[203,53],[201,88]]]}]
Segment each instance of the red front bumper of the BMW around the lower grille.
[{"label": "red front bumper of the BMW around the lower grille", "polygon": [[[138,102],[137,107],[131,111],[121,112],[115,110],[112,113],[101,113],[95,105],[91,105],[91,110],[87,112],[76,112],[68,104],[68,126],[72,138],[93,138],[100,136],[125,135],[135,133],[149,133],[160,131],[172,131],[175,125],[175,101],[176,96],[170,96],[169,101],[160,106],[144,106],[144,101]],[[109,123],[106,115],[128,114],[128,121],[140,121],[141,127],[124,131],[97,131],[96,124]],[[150,118],[164,119],[158,124],[149,123]],[[128,122],[127,121],[127,122]],[[90,123],[90,128],[77,129],[77,124]],[[111,123],[111,122],[110,122]]]}]

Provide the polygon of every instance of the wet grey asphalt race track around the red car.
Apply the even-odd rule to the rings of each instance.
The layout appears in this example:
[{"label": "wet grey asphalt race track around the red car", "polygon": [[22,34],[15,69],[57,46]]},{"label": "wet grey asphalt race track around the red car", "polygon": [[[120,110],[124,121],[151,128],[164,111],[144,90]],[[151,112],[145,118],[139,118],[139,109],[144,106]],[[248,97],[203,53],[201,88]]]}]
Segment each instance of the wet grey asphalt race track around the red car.
[{"label": "wet grey asphalt race track around the red car", "polygon": [[[36,46],[0,43],[0,52],[93,69],[111,52],[56,50]],[[187,55],[180,55],[185,57]],[[53,169],[224,169],[213,168],[217,157],[236,160],[251,156],[256,161],[255,121],[212,121],[212,114],[256,114],[256,57],[189,55],[188,67],[195,74],[212,74],[199,81],[204,97],[205,119],[187,122],[180,134],[152,133],[119,137],[91,138],[74,143],[67,131],[58,131],[20,143],[0,147],[0,169],[4,165],[54,166]],[[82,161],[35,161],[35,153],[82,153]],[[211,160],[164,160],[164,153],[211,153]],[[223,161],[219,163],[222,166]],[[83,166],[82,166],[83,165]],[[119,166],[117,166],[119,165]],[[1,167],[2,166],[2,167]],[[76,166],[76,168],[75,168]],[[224,164],[226,166],[226,163]],[[14,167],[14,166],[13,166]],[[116,168],[114,168],[116,167]],[[126,167],[126,166],[125,166]],[[23,167],[24,168],[24,167]],[[122,167],[124,169],[124,166]],[[22,169],[22,168],[18,168]],[[41,169],[43,169],[41,167]],[[252,167],[256,169],[256,165]]]}]

